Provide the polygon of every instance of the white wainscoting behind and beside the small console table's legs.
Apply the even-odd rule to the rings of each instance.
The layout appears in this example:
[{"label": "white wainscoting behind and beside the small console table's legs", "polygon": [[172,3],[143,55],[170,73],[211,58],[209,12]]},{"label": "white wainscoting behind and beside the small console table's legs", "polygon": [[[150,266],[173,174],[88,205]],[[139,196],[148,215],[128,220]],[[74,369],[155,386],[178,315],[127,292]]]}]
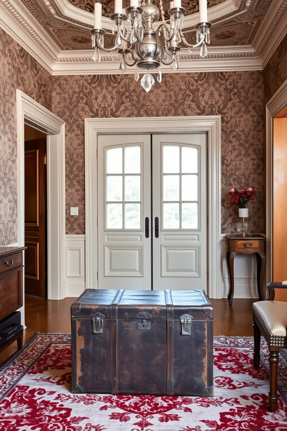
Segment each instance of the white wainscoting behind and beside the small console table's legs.
[{"label": "white wainscoting behind and beside the small console table's legs", "polygon": [[[228,239],[221,238],[221,297],[227,298],[229,275],[227,266]],[[256,255],[238,253],[234,259],[234,298],[258,298]]]}]

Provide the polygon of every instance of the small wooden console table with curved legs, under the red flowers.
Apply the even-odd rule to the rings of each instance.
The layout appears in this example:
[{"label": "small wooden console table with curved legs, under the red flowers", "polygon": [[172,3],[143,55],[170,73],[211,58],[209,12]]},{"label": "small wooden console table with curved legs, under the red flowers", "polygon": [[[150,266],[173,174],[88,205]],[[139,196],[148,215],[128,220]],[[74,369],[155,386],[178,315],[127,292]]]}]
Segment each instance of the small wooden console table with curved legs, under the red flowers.
[{"label": "small wooden console table with curved legs, under the red flowers", "polygon": [[227,265],[229,272],[229,305],[232,305],[234,294],[234,258],[237,253],[256,253],[257,260],[257,289],[260,300],[263,299],[263,282],[266,269],[266,257],[264,245],[266,238],[260,234],[247,234],[245,237],[239,234],[228,234]]}]

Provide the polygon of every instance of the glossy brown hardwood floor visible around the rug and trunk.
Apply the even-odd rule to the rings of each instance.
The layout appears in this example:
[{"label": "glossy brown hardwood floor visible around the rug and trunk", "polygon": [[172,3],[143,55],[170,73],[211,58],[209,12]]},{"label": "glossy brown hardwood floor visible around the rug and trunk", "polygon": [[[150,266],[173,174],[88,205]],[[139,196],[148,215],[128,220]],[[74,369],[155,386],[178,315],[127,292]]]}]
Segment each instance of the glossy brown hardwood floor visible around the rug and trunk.
[{"label": "glossy brown hardwood floor visible around the rug and trunk", "polygon": [[[25,295],[25,325],[23,344],[36,332],[70,333],[71,304],[76,298],[61,301],[46,300]],[[227,299],[212,299],[213,334],[225,336],[253,336],[252,304],[256,299],[233,300],[232,306]],[[17,352],[17,343],[11,344],[0,352],[0,365]]]}]

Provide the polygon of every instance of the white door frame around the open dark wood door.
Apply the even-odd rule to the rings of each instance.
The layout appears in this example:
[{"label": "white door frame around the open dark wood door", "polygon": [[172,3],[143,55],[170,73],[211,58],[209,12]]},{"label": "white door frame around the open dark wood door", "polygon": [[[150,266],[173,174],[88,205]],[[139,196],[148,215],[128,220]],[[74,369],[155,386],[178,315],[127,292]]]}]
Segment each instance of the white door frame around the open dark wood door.
[{"label": "white door frame around the open dark wood door", "polygon": [[18,163],[17,243],[21,247],[24,246],[24,124],[28,124],[48,135],[48,299],[59,300],[65,298],[65,122],[22,91],[16,90],[16,95]]}]

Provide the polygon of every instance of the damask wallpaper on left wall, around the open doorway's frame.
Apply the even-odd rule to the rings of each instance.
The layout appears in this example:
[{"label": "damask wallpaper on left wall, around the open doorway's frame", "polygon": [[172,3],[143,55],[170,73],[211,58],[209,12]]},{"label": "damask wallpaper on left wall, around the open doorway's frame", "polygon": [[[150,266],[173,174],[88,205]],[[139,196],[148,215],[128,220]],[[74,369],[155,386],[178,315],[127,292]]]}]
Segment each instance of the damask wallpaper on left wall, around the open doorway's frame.
[{"label": "damask wallpaper on left wall, around the open doorway's frame", "polygon": [[17,241],[16,89],[52,109],[52,76],[0,28],[0,246]]}]

